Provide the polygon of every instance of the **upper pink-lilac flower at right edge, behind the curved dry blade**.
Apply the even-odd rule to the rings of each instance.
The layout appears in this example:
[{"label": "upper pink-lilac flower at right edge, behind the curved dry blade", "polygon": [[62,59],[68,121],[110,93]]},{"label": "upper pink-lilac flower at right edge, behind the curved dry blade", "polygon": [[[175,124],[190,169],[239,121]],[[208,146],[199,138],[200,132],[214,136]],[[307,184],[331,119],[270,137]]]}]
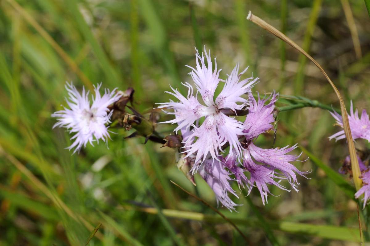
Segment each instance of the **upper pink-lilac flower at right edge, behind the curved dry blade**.
[{"label": "upper pink-lilac flower at right edge, behind the curved dry blade", "polygon": [[[337,124],[343,128],[342,116],[335,111],[334,113],[330,112],[330,114],[332,114],[334,119],[337,121]],[[370,120],[369,114],[366,113],[366,110],[362,110],[361,118],[359,118],[359,112],[357,109],[353,113],[353,104],[351,101],[350,115],[348,115],[348,120],[353,140],[362,138],[370,142]],[[329,140],[332,140],[333,138],[335,138],[335,141],[345,139],[346,135],[344,134],[344,130],[330,136]]]}]

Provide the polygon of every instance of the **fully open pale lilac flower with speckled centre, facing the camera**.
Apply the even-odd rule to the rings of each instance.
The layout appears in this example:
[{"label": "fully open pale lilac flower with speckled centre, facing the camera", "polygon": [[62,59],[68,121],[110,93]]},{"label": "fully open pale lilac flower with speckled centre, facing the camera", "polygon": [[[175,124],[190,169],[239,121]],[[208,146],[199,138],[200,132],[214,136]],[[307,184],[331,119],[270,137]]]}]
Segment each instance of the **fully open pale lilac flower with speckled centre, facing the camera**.
[{"label": "fully open pale lilac flower with speckled centre, facing the camera", "polygon": [[[206,52],[205,52],[206,53]],[[205,64],[207,60],[207,66]],[[229,143],[230,151],[236,149],[238,156],[240,156],[242,148],[238,139],[238,135],[242,134],[242,123],[233,117],[226,116],[221,112],[224,107],[229,107],[232,110],[242,109],[247,103],[246,99],[241,96],[250,92],[250,88],[258,80],[250,77],[239,81],[240,76],[246,71],[239,73],[239,65],[237,64],[231,75],[225,81],[222,92],[213,100],[216,87],[221,79],[219,79],[219,72],[215,61],[215,69],[212,70],[212,60],[210,52],[204,56],[196,52],[196,67],[190,67],[192,71],[190,75],[194,80],[196,89],[198,90],[194,96],[193,87],[189,83],[183,85],[188,87],[188,94],[186,97],[182,96],[177,90],[172,89],[173,92],[167,92],[176,97],[179,102],[170,101],[168,103],[159,103],[158,108],[174,109],[174,112],[166,112],[174,114],[175,119],[161,123],[178,123],[175,132],[183,127],[188,129],[193,126],[193,133],[189,139],[185,141],[186,156],[196,154],[195,165],[192,172],[196,172],[202,162],[208,156],[213,160],[219,156],[219,151],[225,143]],[[197,99],[198,92],[201,94],[205,105],[199,103]],[[206,117],[201,126],[195,126],[194,122],[202,117]]]}]

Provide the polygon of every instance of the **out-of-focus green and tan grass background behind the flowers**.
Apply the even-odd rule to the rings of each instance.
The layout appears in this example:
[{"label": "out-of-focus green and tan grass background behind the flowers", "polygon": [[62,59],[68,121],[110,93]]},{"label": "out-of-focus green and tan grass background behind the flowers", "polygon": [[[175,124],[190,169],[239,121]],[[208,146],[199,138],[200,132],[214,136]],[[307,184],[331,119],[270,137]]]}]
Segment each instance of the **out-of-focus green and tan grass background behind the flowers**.
[{"label": "out-of-focus green and tan grass background behind the flowers", "polygon": [[[195,65],[195,46],[217,56],[223,79],[239,62],[260,77],[254,91],[339,107],[319,70],[247,21],[249,10],[317,59],[347,106],[353,100],[370,109],[370,18],[361,0],[0,1],[0,245],[85,245],[100,223],[90,245],[244,245],[228,223],[169,182],[217,206],[199,176],[195,189],[177,169],[174,150],[144,145],[142,137],[124,140],[132,132],[113,129],[118,134],[111,134],[109,149],[100,143],[72,155],[65,149],[70,136],[52,129],[50,114],[64,104],[65,81],[73,81],[79,90],[100,82],[133,87],[134,106],[148,116],[170,98],[163,94],[169,85],[191,82],[185,64]],[[340,168],[347,148],[345,140],[329,142],[339,130],[329,112],[306,107],[278,119],[275,146],[299,143],[324,165]],[[164,135],[172,129],[157,127]],[[273,133],[258,143],[272,147]],[[356,146],[368,147],[361,140]],[[272,188],[280,196],[263,206],[253,190],[251,200],[281,245],[352,245],[357,234],[340,241],[325,229],[358,228],[356,203],[312,160],[294,163],[312,170],[311,179],[299,177],[299,193]],[[238,213],[219,210],[239,220],[251,243],[269,245],[243,194],[235,201],[243,204]],[[312,235],[297,223],[329,227],[322,229],[326,236]],[[336,239],[351,233],[334,231]]]}]

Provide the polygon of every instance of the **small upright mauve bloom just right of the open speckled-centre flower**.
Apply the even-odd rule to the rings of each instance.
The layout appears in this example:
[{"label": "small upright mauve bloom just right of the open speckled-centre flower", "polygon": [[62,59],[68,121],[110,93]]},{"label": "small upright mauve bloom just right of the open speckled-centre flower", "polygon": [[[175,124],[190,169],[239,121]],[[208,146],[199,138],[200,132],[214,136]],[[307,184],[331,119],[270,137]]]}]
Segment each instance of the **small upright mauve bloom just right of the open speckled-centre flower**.
[{"label": "small upright mauve bloom just right of the open speckled-centre flower", "polygon": [[[249,93],[249,107],[248,114],[243,123],[243,134],[246,140],[253,139],[259,134],[264,133],[273,128],[275,121],[273,117],[273,110],[275,108],[275,102],[279,93],[273,92],[272,96],[266,99],[260,99],[258,94],[258,102],[253,97],[252,93]],[[265,105],[269,99],[270,103]]]}]

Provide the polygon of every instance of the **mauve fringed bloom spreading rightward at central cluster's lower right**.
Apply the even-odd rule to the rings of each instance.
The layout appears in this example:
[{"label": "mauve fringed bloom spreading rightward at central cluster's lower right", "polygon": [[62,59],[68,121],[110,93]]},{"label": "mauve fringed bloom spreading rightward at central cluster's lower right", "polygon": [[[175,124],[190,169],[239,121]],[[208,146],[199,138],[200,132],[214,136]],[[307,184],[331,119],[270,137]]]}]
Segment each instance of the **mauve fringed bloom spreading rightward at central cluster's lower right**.
[{"label": "mauve fringed bloom spreading rightward at central cluster's lower right", "polygon": [[281,149],[261,149],[250,142],[248,145],[248,151],[257,162],[264,163],[273,169],[279,170],[283,176],[286,177],[292,188],[298,192],[295,185],[299,185],[297,182],[296,173],[300,176],[306,177],[305,174],[309,173],[310,171],[301,172],[295,166],[290,164],[290,162],[297,160],[302,153],[299,155],[287,154],[288,152],[296,149],[298,146],[295,144],[290,148],[288,147],[289,146],[285,146]]}]

